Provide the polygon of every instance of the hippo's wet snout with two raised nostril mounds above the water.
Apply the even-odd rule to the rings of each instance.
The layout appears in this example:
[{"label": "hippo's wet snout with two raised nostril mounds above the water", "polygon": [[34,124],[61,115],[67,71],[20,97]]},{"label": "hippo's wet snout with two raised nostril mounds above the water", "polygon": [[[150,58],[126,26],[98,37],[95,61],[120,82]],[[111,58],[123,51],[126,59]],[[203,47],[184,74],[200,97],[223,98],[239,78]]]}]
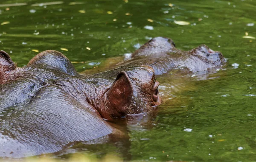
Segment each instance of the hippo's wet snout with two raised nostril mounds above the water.
[{"label": "hippo's wet snout with two raised nostril mounds above the water", "polygon": [[[114,64],[113,67],[147,65],[154,69],[156,75],[161,75],[177,69],[182,70],[182,73],[207,72],[221,68],[226,62],[221,52],[214,51],[207,45],[183,51],[176,48],[172,39],[156,37],[132,53],[130,58]],[[100,69],[93,70],[102,72]],[[86,73],[88,72],[83,72]]]}]

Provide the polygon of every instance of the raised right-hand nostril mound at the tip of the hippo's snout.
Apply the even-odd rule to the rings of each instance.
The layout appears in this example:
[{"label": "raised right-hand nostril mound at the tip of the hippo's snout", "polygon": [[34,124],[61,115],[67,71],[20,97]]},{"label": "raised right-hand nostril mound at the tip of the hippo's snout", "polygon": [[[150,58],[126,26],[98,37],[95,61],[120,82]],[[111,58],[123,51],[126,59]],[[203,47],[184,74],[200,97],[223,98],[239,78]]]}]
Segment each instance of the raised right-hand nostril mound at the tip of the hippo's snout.
[{"label": "raised right-hand nostril mound at the tip of the hippo's snout", "polygon": [[221,65],[226,62],[221,52],[214,51],[207,45],[200,45],[189,52],[209,64]]}]

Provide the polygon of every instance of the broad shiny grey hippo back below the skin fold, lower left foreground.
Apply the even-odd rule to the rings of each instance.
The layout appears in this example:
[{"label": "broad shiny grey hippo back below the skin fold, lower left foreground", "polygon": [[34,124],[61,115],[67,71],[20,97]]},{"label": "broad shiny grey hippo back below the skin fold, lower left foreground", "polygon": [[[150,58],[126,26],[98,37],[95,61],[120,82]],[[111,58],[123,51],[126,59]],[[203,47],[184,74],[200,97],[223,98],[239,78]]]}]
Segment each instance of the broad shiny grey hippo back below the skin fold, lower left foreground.
[{"label": "broad shiny grey hippo back below the skin fold, lower left foreground", "polygon": [[57,85],[42,88],[28,103],[0,114],[1,157],[54,153],[73,142],[95,140],[113,131]]}]

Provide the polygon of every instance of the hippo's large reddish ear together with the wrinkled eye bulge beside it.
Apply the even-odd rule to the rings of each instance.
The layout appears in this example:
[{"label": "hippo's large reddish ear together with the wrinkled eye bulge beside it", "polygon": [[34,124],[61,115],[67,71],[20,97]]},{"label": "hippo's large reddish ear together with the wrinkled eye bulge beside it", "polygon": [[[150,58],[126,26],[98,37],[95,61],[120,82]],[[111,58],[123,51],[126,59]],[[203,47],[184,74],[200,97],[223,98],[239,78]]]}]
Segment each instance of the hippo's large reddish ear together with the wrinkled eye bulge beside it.
[{"label": "hippo's large reddish ear together with the wrinkled eye bulge beside it", "polygon": [[158,86],[151,67],[129,67],[117,75],[97,110],[108,120],[153,112],[161,104]]}]

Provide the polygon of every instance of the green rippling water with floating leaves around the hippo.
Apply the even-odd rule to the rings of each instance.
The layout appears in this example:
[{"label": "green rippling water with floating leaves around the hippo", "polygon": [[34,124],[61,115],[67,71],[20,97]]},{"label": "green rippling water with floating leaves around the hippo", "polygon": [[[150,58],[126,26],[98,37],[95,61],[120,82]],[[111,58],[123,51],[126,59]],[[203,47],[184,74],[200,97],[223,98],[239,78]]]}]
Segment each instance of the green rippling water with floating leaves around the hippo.
[{"label": "green rippling water with floating leaves around the hippo", "polygon": [[[80,0],[76,2],[82,4],[70,5],[73,0],[63,0],[35,5],[42,2],[52,1],[0,2],[25,3],[0,7],[0,23],[10,22],[0,25],[0,49],[18,66],[37,54],[32,50],[51,49],[71,61],[85,61],[74,64],[83,72],[104,67],[105,59],[132,53],[156,36],[172,38],[183,50],[206,44],[228,59],[227,66],[214,74],[158,76],[165,103],[146,126],[128,126],[130,140],[121,147],[124,151],[111,143],[79,145],[58,158],[76,153],[101,158],[111,153],[131,160],[256,161],[256,39],[243,38],[245,32],[256,37],[256,1]],[[234,63],[239,66],[234,68]]]}]

